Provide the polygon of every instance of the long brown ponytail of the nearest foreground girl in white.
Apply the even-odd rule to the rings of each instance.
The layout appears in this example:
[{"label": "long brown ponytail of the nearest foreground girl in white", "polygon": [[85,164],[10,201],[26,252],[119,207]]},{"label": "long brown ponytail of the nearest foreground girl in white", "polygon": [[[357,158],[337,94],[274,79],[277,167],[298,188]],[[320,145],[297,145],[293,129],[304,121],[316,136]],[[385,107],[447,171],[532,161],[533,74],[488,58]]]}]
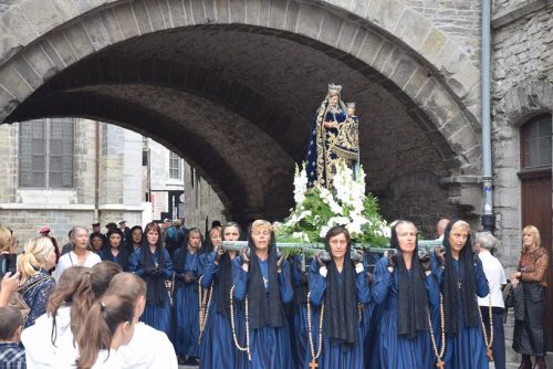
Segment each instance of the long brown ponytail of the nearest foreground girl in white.
[{"label": "long brown ponytail of the nearest foreground girl in white", "polygon": [[100,350],[112,347],[113,338],[122,324],[133,325],[136,299],[129,295],[105,295],[94,303],[84,319],[77,336],[80,357],[76,360],[79,369],[90,369],[97,360]]}]

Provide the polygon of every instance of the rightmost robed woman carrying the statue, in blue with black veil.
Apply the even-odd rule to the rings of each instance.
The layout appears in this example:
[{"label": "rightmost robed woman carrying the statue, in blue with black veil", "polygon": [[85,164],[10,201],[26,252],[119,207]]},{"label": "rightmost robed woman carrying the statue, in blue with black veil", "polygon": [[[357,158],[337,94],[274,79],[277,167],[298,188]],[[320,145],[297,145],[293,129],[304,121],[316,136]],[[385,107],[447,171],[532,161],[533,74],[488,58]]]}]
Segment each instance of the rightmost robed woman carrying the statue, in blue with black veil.
[{"label": "rightmost robed woman carrying the statue, in blue with black veil", "polygon": [[444,234],[444,246],[446,254],[436,250],[436,256],[444,266],[438,281],[444,295],[446,368],[487,369],[487,347],[476,296],[484,297],[489,289],[482,262],[472,251],[470,225],[451,220]]}]

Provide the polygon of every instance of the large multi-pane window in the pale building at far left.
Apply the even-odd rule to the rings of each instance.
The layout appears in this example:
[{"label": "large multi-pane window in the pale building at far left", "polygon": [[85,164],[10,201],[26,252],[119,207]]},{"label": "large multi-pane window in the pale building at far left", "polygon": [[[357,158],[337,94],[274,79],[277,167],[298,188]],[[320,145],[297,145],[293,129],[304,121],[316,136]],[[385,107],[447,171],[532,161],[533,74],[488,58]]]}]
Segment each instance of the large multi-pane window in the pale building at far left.
[{"label": "large multi-pane window in the pale building at far left", "polygon": [[73,118],[20,123],[19,187],[73,188]]}]

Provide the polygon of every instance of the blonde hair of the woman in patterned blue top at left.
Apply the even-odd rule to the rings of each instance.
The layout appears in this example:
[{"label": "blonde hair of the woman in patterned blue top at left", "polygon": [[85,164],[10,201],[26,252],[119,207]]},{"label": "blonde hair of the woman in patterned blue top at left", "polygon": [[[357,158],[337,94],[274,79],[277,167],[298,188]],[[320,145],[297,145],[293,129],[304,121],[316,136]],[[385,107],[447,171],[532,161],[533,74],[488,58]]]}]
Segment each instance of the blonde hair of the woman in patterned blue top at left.
[{"label": "blonde hair of the woman in patterned blue top at left", "polygon": [[35,275],[35,267],[45,268],[48,257],[55,252],[52,240],[48,236],[30,239],[25,243],[25,251],[18,256],[18,270],[21,271],[21,285]]}]

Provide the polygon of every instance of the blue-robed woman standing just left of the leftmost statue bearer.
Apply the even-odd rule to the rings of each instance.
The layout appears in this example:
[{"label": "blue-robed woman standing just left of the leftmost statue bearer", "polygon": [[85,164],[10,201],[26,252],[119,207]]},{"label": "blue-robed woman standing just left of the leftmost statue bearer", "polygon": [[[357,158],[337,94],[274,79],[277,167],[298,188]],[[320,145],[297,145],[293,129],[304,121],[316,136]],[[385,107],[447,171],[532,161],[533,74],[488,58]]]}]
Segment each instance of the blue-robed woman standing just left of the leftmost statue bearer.
[{"label": "blue-robed woman standing just left of the leftmost statue bearer", "polygon": [[175,251],[175,351],[182,362],[197,365],[199,358],[199,309],[198,282],[204,274],[204,256],[200,252],[204,236],[192,228],[185,236],[180,249]]}]

